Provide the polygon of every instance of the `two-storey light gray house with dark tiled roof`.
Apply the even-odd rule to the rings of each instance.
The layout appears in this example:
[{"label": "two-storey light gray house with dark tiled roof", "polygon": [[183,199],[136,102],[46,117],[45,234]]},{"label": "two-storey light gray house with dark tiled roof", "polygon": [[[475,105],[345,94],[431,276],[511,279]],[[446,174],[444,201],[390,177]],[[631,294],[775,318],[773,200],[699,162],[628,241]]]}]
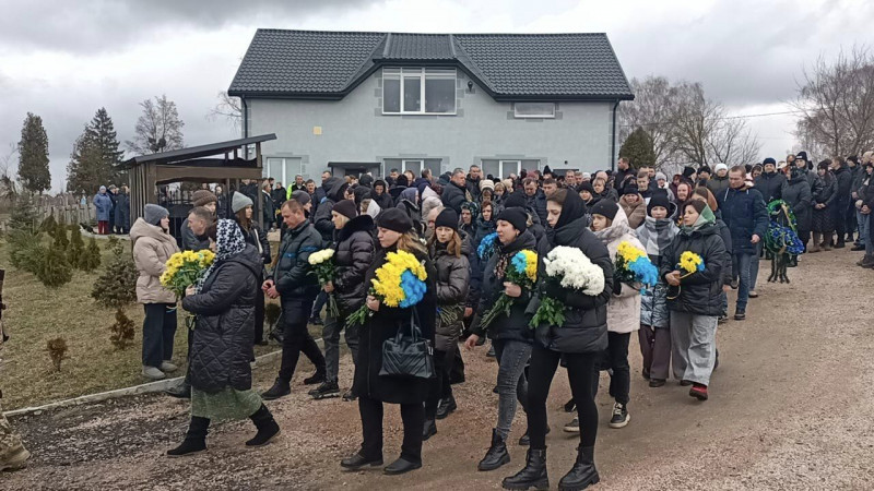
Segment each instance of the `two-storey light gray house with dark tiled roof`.
[{"label": "two-storey light gray house with dark tiled roof", "polygon": [[264,176],[480,165],[611,168],[616,111],[634,94],[605,34],[258,29],[228,88]]}]

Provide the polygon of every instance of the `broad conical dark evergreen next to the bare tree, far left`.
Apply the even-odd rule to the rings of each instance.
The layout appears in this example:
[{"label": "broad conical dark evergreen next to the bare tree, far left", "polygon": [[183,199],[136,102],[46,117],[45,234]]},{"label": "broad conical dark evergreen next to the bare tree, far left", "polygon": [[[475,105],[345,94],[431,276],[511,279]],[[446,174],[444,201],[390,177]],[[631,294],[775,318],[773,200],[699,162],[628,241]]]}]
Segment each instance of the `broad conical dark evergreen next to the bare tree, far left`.
[{"label": "broad conical dark evergreen next to the bare tree, far left", "polygon": [[73,145],[67,165],[68,191],[96,194],[101,185],[125,178],[127,172],[121,167],[123,155],[119,149],[113,119],[105,108],[97,109]]}]

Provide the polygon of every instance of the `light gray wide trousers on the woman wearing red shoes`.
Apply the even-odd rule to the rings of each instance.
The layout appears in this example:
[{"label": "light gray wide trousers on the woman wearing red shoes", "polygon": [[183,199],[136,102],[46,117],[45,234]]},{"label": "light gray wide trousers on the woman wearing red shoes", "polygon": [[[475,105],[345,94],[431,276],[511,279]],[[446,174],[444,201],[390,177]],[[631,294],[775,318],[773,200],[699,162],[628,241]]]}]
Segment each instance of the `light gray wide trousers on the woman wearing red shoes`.
[{"label": "light gray wide trousers on the woman wearing red shoes", "polygon": [[674,378],[710,385],[717,361],[717,318],[671,311]]}]

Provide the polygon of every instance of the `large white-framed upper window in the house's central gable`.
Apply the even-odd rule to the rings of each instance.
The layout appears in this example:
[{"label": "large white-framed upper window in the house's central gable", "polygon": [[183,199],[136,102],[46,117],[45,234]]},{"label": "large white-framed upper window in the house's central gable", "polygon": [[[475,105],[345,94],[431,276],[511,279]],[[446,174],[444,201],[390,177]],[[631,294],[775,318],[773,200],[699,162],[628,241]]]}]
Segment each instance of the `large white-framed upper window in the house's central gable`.
[{"label": "large white-framed upper window in the house's central gable", "polygon": [[456,70],[383,69],[383,115],[454,115]]}]

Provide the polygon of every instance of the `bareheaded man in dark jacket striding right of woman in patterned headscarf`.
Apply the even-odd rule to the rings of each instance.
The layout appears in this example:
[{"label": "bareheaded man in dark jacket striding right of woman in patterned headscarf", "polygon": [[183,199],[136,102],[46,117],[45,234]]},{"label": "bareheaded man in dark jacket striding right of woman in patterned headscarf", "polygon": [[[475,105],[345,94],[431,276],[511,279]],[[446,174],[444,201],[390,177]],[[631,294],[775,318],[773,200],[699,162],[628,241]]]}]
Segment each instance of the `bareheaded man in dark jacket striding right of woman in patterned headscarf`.
[{"label": "bareheaded man in dark jacket striding right of woman in patterned headscarf", "polygon": [[288,200],[282,205],[282,219],[288,231],[280,246],[276,267],[261,287],[268,297],[281,299],[285,322],[280,374],[273,386],[262,394],[265,400],[292,393],[290,384],[300,351],[315,360],[317,374],[322,374],[323,379],[324,373],[324,357],[307,331],[307,319],[319,292],[318,279],[310,271],[309,254],[321,249],[321,236],[297,200]]}]

